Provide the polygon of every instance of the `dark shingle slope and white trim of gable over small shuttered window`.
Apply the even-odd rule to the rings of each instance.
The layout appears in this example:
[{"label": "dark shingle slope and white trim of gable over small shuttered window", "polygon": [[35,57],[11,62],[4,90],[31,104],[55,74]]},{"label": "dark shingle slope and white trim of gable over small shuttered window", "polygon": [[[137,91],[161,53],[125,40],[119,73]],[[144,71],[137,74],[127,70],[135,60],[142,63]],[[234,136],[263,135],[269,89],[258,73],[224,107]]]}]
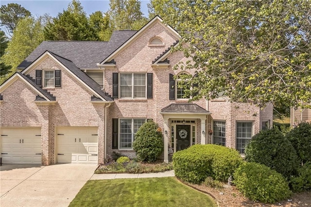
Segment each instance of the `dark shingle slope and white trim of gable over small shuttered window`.
[{"label": "dark shingle slope and white trim of gable over small shuttered window", "polygon": [[22,74],[28,74],[42,59],[51,57],[62,68],[66,69],[69,74],[75,77],[82,85],[86,86],[95,96],[99,97],[104,102],[113,101],[113,99],[102,91],[101,86],[79,69],[71,60],[61,57],[53,52],[46,51],[41,54],[32,64],[21,71]]}]

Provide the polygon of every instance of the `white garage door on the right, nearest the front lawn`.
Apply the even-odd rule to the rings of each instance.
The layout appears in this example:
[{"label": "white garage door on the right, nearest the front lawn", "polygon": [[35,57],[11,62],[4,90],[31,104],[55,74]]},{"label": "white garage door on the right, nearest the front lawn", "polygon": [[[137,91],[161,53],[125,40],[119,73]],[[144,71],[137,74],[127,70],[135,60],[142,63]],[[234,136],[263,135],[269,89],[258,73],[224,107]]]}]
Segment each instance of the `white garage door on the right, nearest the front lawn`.
[{"label": "white garage door on the right, nearest the front lawn", "polygon": [[57,163],[97,163],[97,127],[56,128]]}]

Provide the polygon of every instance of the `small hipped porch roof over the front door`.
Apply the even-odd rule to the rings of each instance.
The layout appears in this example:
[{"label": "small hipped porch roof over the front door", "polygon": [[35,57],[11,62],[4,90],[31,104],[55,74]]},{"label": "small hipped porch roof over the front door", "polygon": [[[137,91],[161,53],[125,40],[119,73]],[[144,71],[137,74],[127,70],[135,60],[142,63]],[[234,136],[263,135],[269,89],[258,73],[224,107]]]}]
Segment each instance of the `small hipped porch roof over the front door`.
[{"label": "small hipped porch roof over the front door", "polygon": [[209,113],[197,104],[170,104],[163,108],[164,113]]}]

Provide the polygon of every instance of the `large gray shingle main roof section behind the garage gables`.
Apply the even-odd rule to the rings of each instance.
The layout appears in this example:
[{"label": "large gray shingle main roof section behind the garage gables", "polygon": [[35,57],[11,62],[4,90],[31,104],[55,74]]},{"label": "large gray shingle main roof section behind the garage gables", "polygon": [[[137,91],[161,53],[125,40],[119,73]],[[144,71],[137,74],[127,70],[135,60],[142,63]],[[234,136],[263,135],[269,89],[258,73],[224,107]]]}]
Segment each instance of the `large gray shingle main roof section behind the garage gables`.
[{"label": "large gray shingle main roof section behind the garage gables", "polygon": [[51,51],[72,60],[80,69],[97,68],[109,54],[119,48],[137,31],[115,31],[109,42],[104,41],[43,41],[17,68],[25,69],[43,52]]}]

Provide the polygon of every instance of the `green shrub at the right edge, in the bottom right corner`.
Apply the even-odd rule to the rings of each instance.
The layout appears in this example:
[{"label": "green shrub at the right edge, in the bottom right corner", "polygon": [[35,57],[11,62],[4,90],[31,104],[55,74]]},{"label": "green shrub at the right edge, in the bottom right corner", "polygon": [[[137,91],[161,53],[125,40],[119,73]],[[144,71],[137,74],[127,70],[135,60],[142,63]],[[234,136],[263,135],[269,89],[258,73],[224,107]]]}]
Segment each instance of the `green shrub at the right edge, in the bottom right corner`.
[{"label": "green shrub at the right edge, in the bottom right corner", "polygon": [[294,192],[311,190],[311,162],[298,169],[298,176],[291,178],[290,186]]}]

